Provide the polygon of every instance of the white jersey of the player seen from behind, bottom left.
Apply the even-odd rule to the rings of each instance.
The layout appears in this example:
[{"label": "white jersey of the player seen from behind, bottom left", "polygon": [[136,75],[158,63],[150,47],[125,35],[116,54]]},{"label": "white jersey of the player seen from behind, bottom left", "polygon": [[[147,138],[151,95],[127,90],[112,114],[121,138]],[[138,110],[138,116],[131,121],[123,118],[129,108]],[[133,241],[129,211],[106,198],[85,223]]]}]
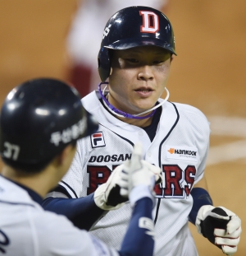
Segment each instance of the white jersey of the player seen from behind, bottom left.
[{"label": "white jersey of the player seen from behind, bottom left", "polygon": [[38,201],[37,193],[0,175],[1,255],[119,256],[65,216],[44,211]]}]

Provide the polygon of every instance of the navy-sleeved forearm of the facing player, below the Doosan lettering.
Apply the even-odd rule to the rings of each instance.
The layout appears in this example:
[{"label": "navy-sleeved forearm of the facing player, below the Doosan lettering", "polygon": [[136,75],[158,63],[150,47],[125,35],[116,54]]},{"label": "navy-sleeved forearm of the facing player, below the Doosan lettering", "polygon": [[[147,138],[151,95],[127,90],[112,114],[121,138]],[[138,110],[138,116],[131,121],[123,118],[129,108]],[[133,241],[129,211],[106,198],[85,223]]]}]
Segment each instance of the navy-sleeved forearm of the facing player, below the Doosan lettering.
[{"label": "navy-sleeved forearm of the facing player, below the Doosan lettering", "polygon": [[80,229],[89,230],[106,211],[97,207],[93,193],[84,198],[46,198],[42,204],[45,210],[65,215]]}]

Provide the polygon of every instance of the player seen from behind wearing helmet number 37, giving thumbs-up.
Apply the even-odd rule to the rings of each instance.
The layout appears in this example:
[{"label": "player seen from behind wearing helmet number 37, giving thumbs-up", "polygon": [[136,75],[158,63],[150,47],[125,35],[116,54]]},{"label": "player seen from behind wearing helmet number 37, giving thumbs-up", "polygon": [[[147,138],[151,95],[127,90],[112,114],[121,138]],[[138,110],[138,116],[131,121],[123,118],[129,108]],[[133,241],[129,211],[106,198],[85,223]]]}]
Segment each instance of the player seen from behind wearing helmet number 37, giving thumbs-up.
[{"label": "player seen from behind wearing helmet number 37, giving thumbs-up", "polygon": [[130,226],[117,252],[73,226],[65,216],[40,206],[71,165],[76,141],[98,128],[78,92],[54,79],[26,81],[7,95],[0,123],[4,162],[0,175],[1,255],[153,255],[153,187],[155,176],[161,181],[161,170],[140,161],[139,144],[132,159],[116,168],[99,193],[96,190],[97,199],[89,196],[81,203],[87,212],[80,217],[95,221],[98,198],[107,207],[114,189],[130,198]]}]

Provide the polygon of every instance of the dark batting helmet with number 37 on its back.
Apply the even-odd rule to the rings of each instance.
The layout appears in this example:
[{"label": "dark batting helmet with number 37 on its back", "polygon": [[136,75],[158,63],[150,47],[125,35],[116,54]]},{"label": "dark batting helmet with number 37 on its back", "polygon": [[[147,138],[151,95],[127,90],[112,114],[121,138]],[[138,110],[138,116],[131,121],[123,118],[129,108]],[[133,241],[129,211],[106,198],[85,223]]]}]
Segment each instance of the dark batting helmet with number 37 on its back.
[{"label": "dark batting helmet with number 37 on its back", "polygon": [[49,78],[25,81],[2,105],[2,161],[20,170],[42,169],[68,144],[97,129],[75,88]]}]

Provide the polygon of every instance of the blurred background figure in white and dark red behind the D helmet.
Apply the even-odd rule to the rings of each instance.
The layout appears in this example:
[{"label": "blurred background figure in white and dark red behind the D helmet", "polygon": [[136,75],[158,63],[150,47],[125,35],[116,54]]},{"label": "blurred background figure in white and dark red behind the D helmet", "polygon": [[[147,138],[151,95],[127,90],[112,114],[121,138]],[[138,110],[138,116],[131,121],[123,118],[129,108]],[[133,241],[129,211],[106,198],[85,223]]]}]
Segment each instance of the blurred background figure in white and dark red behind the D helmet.
[{"label": "blurred background figure in white and dark red behind the D helmet", "polygon": [[[109,16],[132,5],[144,5],[161,10],[168,0],[79,0],[78,9],[67,35],[66,49],[70,59],[67,77],[80,95],[97,89],[97,56],[101,33]],[[91,32],[93,31],[93,33]],[[89,35],[89,36],[88,36]],[[89,45],[89,51],[84,51]]]}]

